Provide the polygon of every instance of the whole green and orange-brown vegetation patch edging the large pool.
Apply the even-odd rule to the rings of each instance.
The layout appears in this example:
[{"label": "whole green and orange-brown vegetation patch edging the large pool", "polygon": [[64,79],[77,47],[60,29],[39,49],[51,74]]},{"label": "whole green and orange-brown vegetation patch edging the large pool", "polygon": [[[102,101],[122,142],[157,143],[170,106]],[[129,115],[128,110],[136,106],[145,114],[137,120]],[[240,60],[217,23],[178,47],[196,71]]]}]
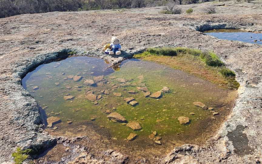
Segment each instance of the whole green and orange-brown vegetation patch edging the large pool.
[{"label": "whole green and orange-brown vegetation patch edging the large pool", "polygon": [[235,73],[224,67],[224,63],[211,51],[202,52],[198,49],[184,47],[148,48],[145,52],[134,55],[134,57],[169,65],[222,87],[237,89],[240,86],[234,78]]}]

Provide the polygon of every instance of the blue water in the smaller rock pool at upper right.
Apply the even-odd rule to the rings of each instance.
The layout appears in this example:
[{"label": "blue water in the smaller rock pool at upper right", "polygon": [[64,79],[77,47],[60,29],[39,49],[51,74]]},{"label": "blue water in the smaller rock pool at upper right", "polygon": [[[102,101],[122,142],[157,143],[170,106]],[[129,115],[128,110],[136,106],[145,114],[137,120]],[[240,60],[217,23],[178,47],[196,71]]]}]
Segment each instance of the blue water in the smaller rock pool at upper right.
[{"label": "blue water in the smaller rock pool at upper right", "polygon": [[246,32],[233,29],[209,30],[205,31],[204,33],[224,40],[262,44],[262,33]]}]

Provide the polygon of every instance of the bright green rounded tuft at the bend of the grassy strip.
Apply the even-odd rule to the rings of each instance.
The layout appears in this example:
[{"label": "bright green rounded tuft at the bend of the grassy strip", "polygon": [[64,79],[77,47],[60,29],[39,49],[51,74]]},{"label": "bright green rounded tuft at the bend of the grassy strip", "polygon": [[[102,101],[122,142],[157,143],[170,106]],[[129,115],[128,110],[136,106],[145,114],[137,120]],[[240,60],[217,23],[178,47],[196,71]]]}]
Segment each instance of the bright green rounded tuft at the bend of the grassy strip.
[{"label": "bright green rounded tuft at the bend of the grassy strip", "polygon": [[218,56],[213,52],[203,52],[200,54],[200,58],[204,61],[207,65],[213,67],[223,66],[224,63],[218,58]]}]

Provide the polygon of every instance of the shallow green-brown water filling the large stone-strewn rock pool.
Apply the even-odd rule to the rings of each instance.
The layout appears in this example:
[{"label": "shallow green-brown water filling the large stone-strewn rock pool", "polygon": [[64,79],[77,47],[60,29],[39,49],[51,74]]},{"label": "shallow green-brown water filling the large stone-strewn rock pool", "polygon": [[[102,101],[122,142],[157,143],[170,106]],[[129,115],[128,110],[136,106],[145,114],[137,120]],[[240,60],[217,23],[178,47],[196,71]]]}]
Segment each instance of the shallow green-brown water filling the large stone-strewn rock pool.
[{"label": "shallow green-brown water filling the large stone-strewn rock pool", "polygon": [[[100,134],[119,142],[124,141],[130,133],[136,133],[138,136],[132,142],[140,142],[141,145],[148,144],[148,136],[153,131],[162,136],[163,143],[173,140],[193,142],[200,136],[205,140],[205,133],[211,135],[228,115],[235,98],[232,90],[222,89],[193,75],[154,62],[131,59],[122,62],[119,68],[114,71],[105,61],[97,58],[70,57],[37,67],[26,75],[22,84],[44,109],[47,117],[61,119],[61,123],[47,130],[70,136],[76,133],[74,129],[78,129],[79,125],[92,123],[94,128],[100,129]],[[82,79],[74,81],[67,78],[69,75],[79,75]],[[95,85],[84,84],[85,80],[100,75],[104,78]],[[123,78],[126,82],[119,82],[117,78]],[[34,90],[35,86],[39,89]],[[170,87],[171,92],[163,93],[159,99],[144,97],[144,92],[137,89],[147,87],[154,93],[164,86]],[[102,90],[108,90],[110,94],[103,94]],[[135,90],[136,93],[128,93],[129,90]],[[88,92],[102,95],[102,98],[96,104],[96,101],[85,98]],[[117,97],[113,93],[122,93],[122,96]],[[64,100],[67,94],[74,96],[74,99]],[[133,107],[127,104],[125,97],[135,98],[138,105]],[[194,106],[195,101],[213,107],[219,115],[213,116],[210,110]],[[134,131],[109,120],[106,110],[120,113],[128,122],[139,122],[142,129]],[[179,116],[189,117],[190,123],[181,125],[177,120]]]}]

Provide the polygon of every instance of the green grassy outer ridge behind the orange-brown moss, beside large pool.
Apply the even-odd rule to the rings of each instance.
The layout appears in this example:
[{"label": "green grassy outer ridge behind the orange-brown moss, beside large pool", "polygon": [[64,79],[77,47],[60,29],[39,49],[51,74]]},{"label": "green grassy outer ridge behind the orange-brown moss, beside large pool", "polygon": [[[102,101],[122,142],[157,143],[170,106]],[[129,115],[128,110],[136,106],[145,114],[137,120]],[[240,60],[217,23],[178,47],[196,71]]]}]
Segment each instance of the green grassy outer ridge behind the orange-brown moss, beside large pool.
[{"label": "green grassy outer ridge behind the orange-brown moss, beside large pool", "polygon": [[236,74],[225,67],[225,64],[219,59],[217,54],[213,51],[201,51],[199,49],[186,48],[186,47],[161,47],[161,48],[148,48],[141,54],[136,54],[134,58],[143,58],[150,55],[157,56],[183,56],[185,54],[193,55],[200,61],[204,62],[207,66],[212,67],[217,73],[222,74],[227,82],[229,88],[237,89],[240,84],[235,80]]}]

